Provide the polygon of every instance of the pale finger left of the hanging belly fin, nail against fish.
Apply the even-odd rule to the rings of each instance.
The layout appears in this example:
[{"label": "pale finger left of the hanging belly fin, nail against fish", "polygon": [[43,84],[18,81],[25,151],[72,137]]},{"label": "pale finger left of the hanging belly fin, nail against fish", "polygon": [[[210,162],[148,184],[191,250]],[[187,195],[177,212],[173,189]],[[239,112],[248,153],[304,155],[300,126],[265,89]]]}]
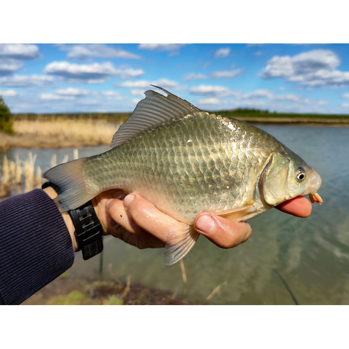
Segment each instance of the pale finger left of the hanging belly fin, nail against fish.
[{"label": "pale finger left of the hanging belly fin, nail against fish", "polygon": [[139,194],[127,195],[124,205],[127,213],[138,226],[164,242],[167,240],[170,229],[182,228],[181,223],[158,210]]}]

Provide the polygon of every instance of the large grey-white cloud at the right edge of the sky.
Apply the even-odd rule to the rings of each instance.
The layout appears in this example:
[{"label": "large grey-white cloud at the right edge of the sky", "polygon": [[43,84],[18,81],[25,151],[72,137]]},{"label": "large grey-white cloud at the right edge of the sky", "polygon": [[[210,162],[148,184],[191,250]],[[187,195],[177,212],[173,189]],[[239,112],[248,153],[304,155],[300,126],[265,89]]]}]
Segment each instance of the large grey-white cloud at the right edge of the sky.
[{"label": "large grey-white cloud at the right edge of the sky", "polygon": [[282,78],[306,87],[343,87],[349,84],[349,72],[337,70],[340,63],[331,50],[312,50],[293,57],[274,56],[259,76]]}]

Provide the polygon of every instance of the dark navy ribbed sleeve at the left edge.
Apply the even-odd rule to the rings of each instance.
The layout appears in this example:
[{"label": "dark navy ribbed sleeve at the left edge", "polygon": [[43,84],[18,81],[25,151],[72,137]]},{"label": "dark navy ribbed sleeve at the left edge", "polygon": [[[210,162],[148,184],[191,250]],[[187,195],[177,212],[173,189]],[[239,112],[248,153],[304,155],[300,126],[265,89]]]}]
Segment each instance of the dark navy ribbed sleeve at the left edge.
[{"label": "dark navy ribbed sleeve at the left edge", "polygon": [[0,304],[22,303],[73,262],[68,229],[43,190],[0,202]]}]

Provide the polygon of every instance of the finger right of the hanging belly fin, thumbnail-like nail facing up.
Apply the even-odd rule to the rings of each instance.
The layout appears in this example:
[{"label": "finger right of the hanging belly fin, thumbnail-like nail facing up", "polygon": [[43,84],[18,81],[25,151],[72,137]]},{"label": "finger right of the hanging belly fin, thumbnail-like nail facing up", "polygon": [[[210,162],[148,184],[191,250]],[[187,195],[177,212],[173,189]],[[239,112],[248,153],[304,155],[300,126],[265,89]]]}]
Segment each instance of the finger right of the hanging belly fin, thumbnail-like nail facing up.
[{"label": "finger right of the hanging belly fin, thumbnail-like nail facing up", "polygon": [[234,222],[210,212],[198,214],[194,228],[221,248],[231,248],[245,242],[252,232],[247,222]]}]

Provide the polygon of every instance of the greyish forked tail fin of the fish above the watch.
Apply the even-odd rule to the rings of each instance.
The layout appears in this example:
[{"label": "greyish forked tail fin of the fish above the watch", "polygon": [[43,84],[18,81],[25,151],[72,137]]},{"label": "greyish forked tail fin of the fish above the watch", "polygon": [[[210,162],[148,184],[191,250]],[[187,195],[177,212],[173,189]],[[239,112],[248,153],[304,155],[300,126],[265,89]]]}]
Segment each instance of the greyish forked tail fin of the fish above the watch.
[{"label": "greyish forked tail fin of the fish above the watch", "polygon": [[54,199],[61,212],[77,208],[96,196],[86,189],[83,172],[86,159],[81,158],[58,165],[43,174],[44,178],[58,185],[62,191]]}]

